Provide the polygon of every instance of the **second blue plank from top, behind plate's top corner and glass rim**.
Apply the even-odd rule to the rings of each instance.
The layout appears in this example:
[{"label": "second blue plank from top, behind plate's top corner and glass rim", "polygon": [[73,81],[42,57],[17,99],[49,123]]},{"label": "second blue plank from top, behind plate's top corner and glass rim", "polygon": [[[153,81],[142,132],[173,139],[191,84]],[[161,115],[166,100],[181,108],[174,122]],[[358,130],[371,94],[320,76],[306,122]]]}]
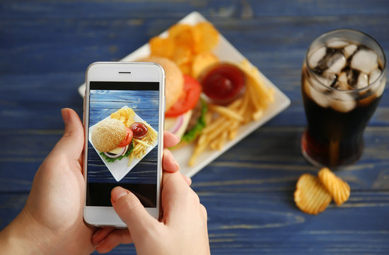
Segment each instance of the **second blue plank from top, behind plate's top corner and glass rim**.
[{"label": "second blue plank from top, behind plate's top corner and glass rim", "polygon": [[[327,30],[339,28],[339,24],[372,35],[388,55],[385,26],[376,26],[378,21],[382,25],[388,23],[387,14],[364,18],[285,16],[211,18],[210,21],[265,74],[276,67],[279,74],[279,68],[285,68],[286,64],[299,73],[310,42]],[[84,72],[91,62],[120,60],[178,20],[146,18],[132,21],[124,18],[112,22],[110,19],[74,18],[63,22],[60,18],[42,20],[39,17],[25,22],[5,19],[1,33],[7,43],[0,48],[0,57],[4,59],[0,62],[0,72]],[[42,30],[45,33],[41,33]]]}]

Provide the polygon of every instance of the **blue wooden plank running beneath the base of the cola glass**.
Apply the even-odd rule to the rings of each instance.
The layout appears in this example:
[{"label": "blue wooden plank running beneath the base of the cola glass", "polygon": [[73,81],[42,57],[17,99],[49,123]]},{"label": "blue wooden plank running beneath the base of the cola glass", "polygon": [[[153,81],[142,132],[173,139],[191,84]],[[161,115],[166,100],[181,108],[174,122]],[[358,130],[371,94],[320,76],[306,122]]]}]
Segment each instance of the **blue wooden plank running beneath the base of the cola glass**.
[{"label": "blue wooden plank running beneath the base of the cola glass", "polygon": [[[300,153],[300,127],[263,127],[229,149],[193,178],[197,191],[293,190],[298,176],[315,174]],[[62,130],[0,130],[6,147],[0,156],[0,191],[23,191]],[[337,171],[356,190],[388,189],[389,128],[370,127],[361,160]],[[20,145],[23,144],[21,147]]]}]

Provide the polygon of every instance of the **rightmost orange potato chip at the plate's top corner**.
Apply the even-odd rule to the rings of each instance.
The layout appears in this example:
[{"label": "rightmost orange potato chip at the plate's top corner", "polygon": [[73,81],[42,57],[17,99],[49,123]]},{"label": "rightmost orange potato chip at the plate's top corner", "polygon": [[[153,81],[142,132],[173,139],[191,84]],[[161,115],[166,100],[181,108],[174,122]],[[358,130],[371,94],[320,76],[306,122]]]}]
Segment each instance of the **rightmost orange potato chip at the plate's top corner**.
[{"label": "rightmost orange potato chip at the plate's top corner", "polygon": [[209,22],[200,22],[194,25],[193,33],[194,52],[210,51],[219,43],[219,32]]}]

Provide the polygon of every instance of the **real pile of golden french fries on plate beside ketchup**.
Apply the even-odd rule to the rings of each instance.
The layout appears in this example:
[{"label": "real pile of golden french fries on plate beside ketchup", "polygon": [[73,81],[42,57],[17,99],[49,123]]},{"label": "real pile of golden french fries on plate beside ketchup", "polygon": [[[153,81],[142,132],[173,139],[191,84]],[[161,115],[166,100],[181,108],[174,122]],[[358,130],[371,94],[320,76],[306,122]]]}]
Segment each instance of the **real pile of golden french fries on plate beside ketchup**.
[{"label": "real pile of golden french fries on plate beside ketchup", "polygon": [[248,78],[243,96],[228,106],[209,105],[211,113],[206,118],[207,126],[194,146],[189,166],[195,164],[199,154],[204,152],[208,145],[211,149],[223,148],[228,140],[236,137],[242,125],[261,118],[269,103],[274,101],[274,91],[265,85],[256,67],[252,67],[248,60],[240,63],[239,67]]}]

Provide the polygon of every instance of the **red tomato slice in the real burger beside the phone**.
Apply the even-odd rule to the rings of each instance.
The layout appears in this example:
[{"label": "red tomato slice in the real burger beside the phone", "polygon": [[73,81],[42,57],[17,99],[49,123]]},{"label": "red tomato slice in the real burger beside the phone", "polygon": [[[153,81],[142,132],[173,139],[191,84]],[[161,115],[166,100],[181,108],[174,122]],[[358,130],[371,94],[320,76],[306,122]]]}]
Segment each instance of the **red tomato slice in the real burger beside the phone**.
[{"label": "red tomato slice in the real burger beside the phone", "polygon": [[196,106],[199,101],[200,94],[202,93],[202,86],[199,81],[184,74],[184,90],[178,101],[176,101],[168,111],[166,111],[166,117],[177,117],[182,113],[189,111]]}]

